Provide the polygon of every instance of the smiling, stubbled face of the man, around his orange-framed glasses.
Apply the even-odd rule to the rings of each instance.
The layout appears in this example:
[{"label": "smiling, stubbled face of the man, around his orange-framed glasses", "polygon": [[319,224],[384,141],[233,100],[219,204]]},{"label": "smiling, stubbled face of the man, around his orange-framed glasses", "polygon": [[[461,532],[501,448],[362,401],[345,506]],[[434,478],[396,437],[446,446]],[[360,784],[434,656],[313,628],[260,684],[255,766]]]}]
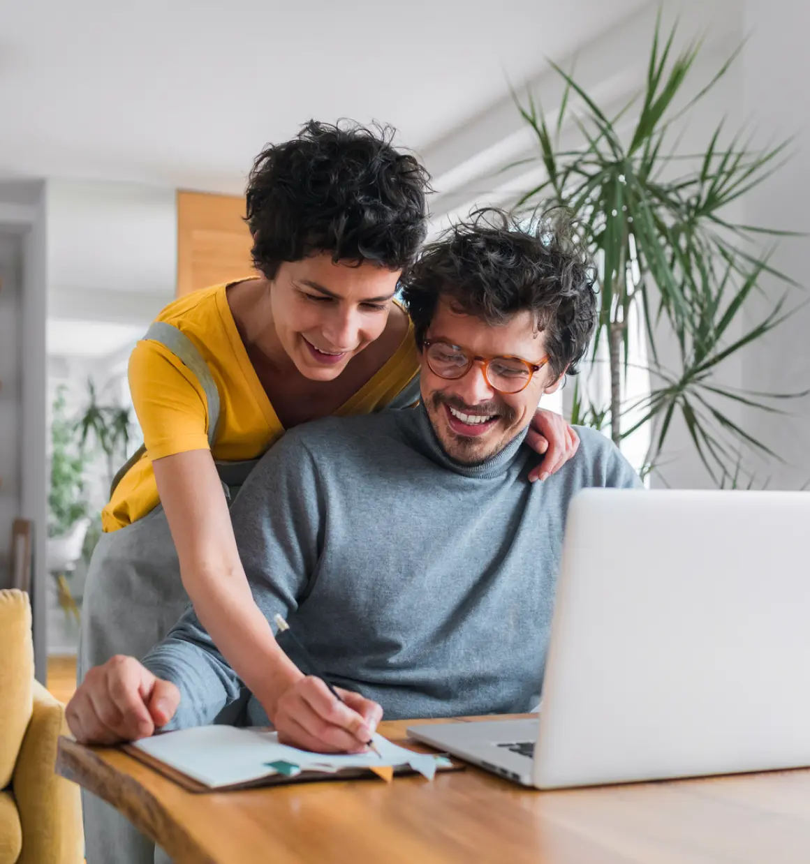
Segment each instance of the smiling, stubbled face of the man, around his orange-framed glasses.
[{"label": "smiling, stubbled face of the man, around his orange-framed glasses", "polygon": [[[506,324],[494,326],[475,315],[455,311],[442,298],[437,303],[427,339],[459,346],[476,357],[519,357],[530,365],[544,358],[543,334],[529,311],[514,314]],[[543,393],[555,391],[544,365],[519,393],[494,390],[474,363],[462,378],[448,380],[431,371],[422,352],[422,400],[444,452],[458,462],[474,465],[501,452],[531,422]]]}]

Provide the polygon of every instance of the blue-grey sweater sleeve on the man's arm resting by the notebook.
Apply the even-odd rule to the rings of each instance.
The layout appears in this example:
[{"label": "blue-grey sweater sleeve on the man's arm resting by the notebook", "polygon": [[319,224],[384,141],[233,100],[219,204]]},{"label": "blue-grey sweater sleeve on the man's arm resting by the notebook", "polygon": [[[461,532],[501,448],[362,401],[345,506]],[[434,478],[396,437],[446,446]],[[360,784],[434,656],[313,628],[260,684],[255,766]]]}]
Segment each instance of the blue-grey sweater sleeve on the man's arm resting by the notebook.
[{"label": "blue-grey sweater sleeve on the man's arm resting by the notebook", "polygon": [[[288,433],[258,462],[231,507],[239,557],[269,621],[277,613],[288,617],[306,592],[320,553],[322,512],[314,460],[299,436]],[[181,705],[167,729],[211,723],[242,693],[192,607],[143,662],[180,689]]]}]

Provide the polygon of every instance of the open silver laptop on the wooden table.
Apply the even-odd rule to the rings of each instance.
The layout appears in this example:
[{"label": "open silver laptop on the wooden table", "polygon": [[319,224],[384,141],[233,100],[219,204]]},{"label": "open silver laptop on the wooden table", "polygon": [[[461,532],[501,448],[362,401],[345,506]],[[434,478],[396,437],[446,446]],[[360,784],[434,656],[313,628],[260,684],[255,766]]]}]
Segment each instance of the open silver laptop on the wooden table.
[{"label": "open silver laptop on the wooden table", "polygon": [[810,766],[810,493],[579,493],[539,718],[408,731],[539,789]]}]

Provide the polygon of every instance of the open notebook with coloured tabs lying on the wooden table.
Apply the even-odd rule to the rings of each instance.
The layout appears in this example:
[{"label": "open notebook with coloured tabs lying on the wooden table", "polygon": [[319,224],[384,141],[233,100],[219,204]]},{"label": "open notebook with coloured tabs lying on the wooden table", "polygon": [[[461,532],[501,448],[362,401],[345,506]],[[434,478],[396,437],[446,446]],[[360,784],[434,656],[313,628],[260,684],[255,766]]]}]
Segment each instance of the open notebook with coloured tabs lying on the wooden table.
[{"label": "open notebook with coloured tabs lying on the wooden table", "polygon": [[459,768],[432,753],[416,753],[375,734],[376,753],[309,753],[278,743],[261,728],[201,726],[158,734],[124,746],[127,753],[174,779],[189,791],[226,791],[303,780],[367,777],[374,768],[418,772],[433,779],[437,771]]}]

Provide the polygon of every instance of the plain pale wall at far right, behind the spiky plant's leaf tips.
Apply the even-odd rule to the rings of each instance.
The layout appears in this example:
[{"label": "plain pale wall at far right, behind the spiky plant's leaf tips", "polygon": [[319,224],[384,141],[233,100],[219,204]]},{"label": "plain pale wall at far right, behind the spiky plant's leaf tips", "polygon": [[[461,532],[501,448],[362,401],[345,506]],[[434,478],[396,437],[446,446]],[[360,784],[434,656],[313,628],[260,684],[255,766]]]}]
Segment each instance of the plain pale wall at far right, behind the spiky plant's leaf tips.
[{"label": "plain pale wall at far right, behind the spiky plant's leaf tips", "polygon": [[[745,29],[750,40],[743,58],[746,113],[765,141],[796,136],[794,157],[786,168],[745,200],[745,220],[782,229],[810,232],[810,107],[807,82],[807,3],[801,0],[747,0]],[[785,239],[775,252],[774,266],[804,286],[794,302],[805,302],[810,288],[808,238]],[[763,280],[770,298],[779,295],[780,283]],[[749,304],[749,325],[762,320],[763,302]],[[795,392],[810,388],[810,308],[805,308],[773,334],[745,353],[745,386],[756,391]],[[763,415],[746,410],[753,433],[787,462],[770,461],[762,479],[772,488],[797,489],[810,481],[810,400],[784,403],[793,417]]]}]

